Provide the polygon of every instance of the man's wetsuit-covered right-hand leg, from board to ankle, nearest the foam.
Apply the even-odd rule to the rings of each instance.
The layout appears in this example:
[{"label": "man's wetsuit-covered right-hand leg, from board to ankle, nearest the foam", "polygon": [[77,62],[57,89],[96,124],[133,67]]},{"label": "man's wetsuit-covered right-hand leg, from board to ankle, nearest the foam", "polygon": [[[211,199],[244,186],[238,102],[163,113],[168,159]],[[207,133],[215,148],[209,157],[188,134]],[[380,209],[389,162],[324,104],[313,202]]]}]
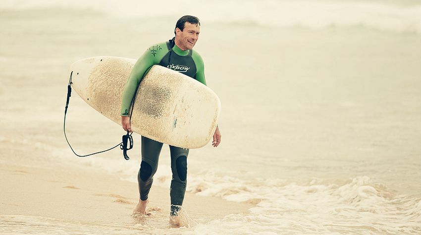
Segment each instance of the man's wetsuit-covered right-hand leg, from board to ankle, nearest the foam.
[{"label": "man's wetsuit-covered right-hand leg, from board to ankle, nearest the foam", "polygon": [[187,156],[189,149],[169,146],[171,152],[172,180],[170,188],[171,216],[177,216],[183,205],[187,185]]}]

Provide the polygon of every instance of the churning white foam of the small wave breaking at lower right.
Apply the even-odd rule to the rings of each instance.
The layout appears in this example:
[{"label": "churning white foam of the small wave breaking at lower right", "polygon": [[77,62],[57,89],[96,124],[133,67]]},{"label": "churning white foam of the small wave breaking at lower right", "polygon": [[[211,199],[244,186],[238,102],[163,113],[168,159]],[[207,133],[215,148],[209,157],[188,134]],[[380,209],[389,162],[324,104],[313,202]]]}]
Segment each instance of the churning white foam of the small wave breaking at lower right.
[{"label": "churning white foam of the small wave breaking at lower right", "polygon": [[247,190],[238,193],[241,197],[227,197],[234,200],[261,198],[262,201],[250,209],[250,214],[230,215],[197,226],[195,232],[201,234],[210,229],[216,234],[229,231],[273,234],[421,232],[420,199],[394,195],[367,176],[357,176],[341,184],[321,180],[304,184],[279,181],[277,186],[265,181],[261,183],[260,186],[246,186]]}]

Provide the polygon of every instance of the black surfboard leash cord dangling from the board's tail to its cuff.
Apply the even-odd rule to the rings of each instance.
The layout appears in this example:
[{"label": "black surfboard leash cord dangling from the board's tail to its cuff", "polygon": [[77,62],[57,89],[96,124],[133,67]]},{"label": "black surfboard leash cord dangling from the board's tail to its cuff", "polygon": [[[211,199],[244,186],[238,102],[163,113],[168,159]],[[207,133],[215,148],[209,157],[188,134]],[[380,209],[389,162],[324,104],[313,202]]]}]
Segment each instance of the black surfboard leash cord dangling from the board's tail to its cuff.
[{"label": "black surfboard leash cord dangling from the board's tail to its cuff", "polygon": [[[77,154],[73,150],[72,146],[69,143],[69,140],[67,139],[67,135],[66,135],[66,116],[67,116],[67,109],[69,107],[70,96],[72,94],[72,88],[71,88],[72,74],[73,74],[73,71],[70,73],[69,84],[67,85],[67,99],[66,99],[66,107],[64,108],[64,121],[63,121],[64,137],[66,138],[66,142],[69,145],[70,149],[78,157],[88,157],[88,156],[91,156],[91,155],[95,155],[95,154],[99,154],[99,153],[104,153],[106,151],[109,151],[111,149],[114,149],[114,148],[120,146],[120,149],[123,150],[124,159],[129,160],[130,158],[129,158],[129,156],[127,156],[127,150],[130,150],[130,149],[133,148],[133,137],[132,137],[132,133],[133,132],[131,132],[129,134],[129,131],[127,131],[127,134],[123,135],[123,137],[122,137],[122,140],[123,141],[120,142],[119,144],[117,144],[116,146],[112,147],[112,148],[109,148],[109,149],[106,149],[106,150],[103,150],[103,151],[99,151],[99,152],[96,152],[96,153],[87,154],[87,155],[79,155],[79,154]],[[127,146],[129,146],[129,147],[127,147]]]}]

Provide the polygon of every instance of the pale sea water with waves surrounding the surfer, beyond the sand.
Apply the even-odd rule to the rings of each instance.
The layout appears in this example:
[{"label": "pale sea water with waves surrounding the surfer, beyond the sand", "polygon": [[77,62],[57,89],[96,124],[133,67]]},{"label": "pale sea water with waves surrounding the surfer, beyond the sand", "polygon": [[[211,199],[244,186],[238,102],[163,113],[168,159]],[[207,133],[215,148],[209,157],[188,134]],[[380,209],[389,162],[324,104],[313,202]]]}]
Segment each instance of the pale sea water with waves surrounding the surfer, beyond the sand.
[{"label": "pale sea water with waves surrounding the surfer, beyond the sand", "polygon": [[[25,111],[35,122],[58,123],[57,138],[62,138],[62,110],[57,107],[63,104],[51,97],[65,96],[58,88],[66,85],[71,62],[99,55],[137,58],[149,45],[170,39],[181,15],[201,19],[195,49],[205,60],[208,85],[222,102],[222,143],[216,149],[191,150],[187,191],[253,206],[248,214],[177,233],[421,233],[418,1],[157,5],[19,0],[3,1],[0,9],[0,30],[6,35],[1,39],[1,74],[34,76],[57,88]],[[121,127],[75,100],[77,96],[72,97],[72,119],[79,126],[107,127],[98,127],[103,137],[83,151],[112,142],[104,136],[120,135]],[[38,118],[38,112],[51,112],[51,120]],[[139,139],[135,137],[135,145]],[[82,161],[71,155],[64,140],[35,144],[68,164],[94,166],[136,181],[140,146],[126,162],[116,157],[118,151]],[[169,187],[165,145],[155,178],[154,184]],[[143,225],[74,225],[23,215],[0,219],[6,233],[86,234],[92,227],[104,234],[171,233]]]}]

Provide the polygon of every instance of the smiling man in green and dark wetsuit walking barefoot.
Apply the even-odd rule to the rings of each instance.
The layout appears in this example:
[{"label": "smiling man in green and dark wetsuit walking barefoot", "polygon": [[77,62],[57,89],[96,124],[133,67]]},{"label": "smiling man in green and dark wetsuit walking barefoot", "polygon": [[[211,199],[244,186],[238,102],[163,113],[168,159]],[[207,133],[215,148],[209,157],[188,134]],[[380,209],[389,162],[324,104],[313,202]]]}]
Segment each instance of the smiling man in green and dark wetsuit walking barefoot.
[{"label": "smiling man in green and dark wetsuit walking barefoot", "polygon": [[[126,82],[121,105],[121,124],[123,129],[131,131],[129,109],[138,84],[154,64],[182,72],[206,85],[205,67],[201,56],[193,51],[200,34],[200,22],[197,17],[185,15],[175,25],[175,37],[168,42],[151,46],[137,60]],[[180,69],[182,68],[182,69]],[[212,146],[217,147],[221,141],[219,128],[213,134]],[[162,143],[142,136],[142,163],[138,174],[139,203],[134,214],[146,214],[148,194],[153,176],[157,171],[159,153]],[[188,149],[169,146],[171,153],[172,180],[170,188],[171,212],[170,224],[180,226],[178,211],[183,204],[187,184]]]}]

